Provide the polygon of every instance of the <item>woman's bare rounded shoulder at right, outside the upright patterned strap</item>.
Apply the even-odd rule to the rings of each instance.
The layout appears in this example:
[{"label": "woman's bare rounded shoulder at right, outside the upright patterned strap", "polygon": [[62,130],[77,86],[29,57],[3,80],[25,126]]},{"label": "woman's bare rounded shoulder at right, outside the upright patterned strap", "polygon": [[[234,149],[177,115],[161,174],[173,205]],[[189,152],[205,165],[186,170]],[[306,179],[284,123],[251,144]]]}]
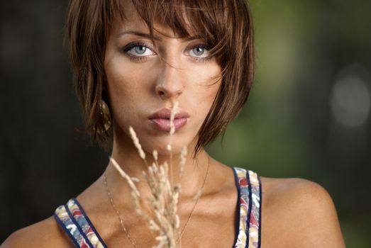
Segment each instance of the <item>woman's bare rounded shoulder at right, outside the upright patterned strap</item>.
[{"label": "woman's bare rounded shoulder at right, outside the upright patterned strap", "polygon": [[[262,181],[262,247],[345,247],[335,205],[325,188],[305,179]],[[265,239],[266,237],[266,239]]]}]

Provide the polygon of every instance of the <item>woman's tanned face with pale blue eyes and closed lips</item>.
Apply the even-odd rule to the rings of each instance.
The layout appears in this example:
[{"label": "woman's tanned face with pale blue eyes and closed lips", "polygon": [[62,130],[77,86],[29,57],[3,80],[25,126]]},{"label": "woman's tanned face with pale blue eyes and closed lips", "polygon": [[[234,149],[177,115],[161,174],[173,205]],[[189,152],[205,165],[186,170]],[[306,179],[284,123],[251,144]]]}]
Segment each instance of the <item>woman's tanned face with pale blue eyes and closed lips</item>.
[{"label": "woman's tanned face with pale blue eyes and closed lips", "polygon": [[153,44],[133,6],[126,17],[113,23],[104,59],[115,142],[130,142],[131,125],[145,151],[167,154],[168,118],[177,102],[172,149],[192,149],[220,86],[221,67],[203,40],[175,38],[170,28],[155,25],[166,36],[155,31]]}]

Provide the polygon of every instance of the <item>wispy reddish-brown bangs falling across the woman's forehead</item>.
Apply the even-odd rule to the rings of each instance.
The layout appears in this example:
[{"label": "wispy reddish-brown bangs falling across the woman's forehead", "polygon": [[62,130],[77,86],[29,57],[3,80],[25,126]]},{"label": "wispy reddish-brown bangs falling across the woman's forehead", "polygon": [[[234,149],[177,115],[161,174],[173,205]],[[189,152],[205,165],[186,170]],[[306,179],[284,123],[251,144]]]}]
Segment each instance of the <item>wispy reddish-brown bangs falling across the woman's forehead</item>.
[{"label": "wispy reddish-brown bangs falling across the woman's forehead", "polygon": [[221,55],[228,29],[228,6],[225,0],[112,0],[110,12],[125,21],[127,6],[124,4],[128,2],[148,26],[153,40],[155,32],[169,37],[155,28],[160,24],[171,28],[176,38],[194,37],[204,40],[210,47],[211,55]]}]

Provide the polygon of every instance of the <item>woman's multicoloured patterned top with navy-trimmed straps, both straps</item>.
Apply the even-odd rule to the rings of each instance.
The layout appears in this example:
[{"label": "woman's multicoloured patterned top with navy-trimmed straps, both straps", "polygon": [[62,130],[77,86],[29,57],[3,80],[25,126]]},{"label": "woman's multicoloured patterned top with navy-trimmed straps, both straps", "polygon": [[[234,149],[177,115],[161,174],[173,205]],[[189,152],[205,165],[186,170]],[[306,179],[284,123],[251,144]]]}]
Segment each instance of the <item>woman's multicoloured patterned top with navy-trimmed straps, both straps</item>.
[{"label": "woman's multicoloured patterned top with navy-trimmed straps, both straps", "polygon": [[[260,248],[262,186],[258,174],[233,167],[238,191],[236,233],[232,248]],[[76,247],[107,247],[76,198],[60,205],[54,218]]]}]

